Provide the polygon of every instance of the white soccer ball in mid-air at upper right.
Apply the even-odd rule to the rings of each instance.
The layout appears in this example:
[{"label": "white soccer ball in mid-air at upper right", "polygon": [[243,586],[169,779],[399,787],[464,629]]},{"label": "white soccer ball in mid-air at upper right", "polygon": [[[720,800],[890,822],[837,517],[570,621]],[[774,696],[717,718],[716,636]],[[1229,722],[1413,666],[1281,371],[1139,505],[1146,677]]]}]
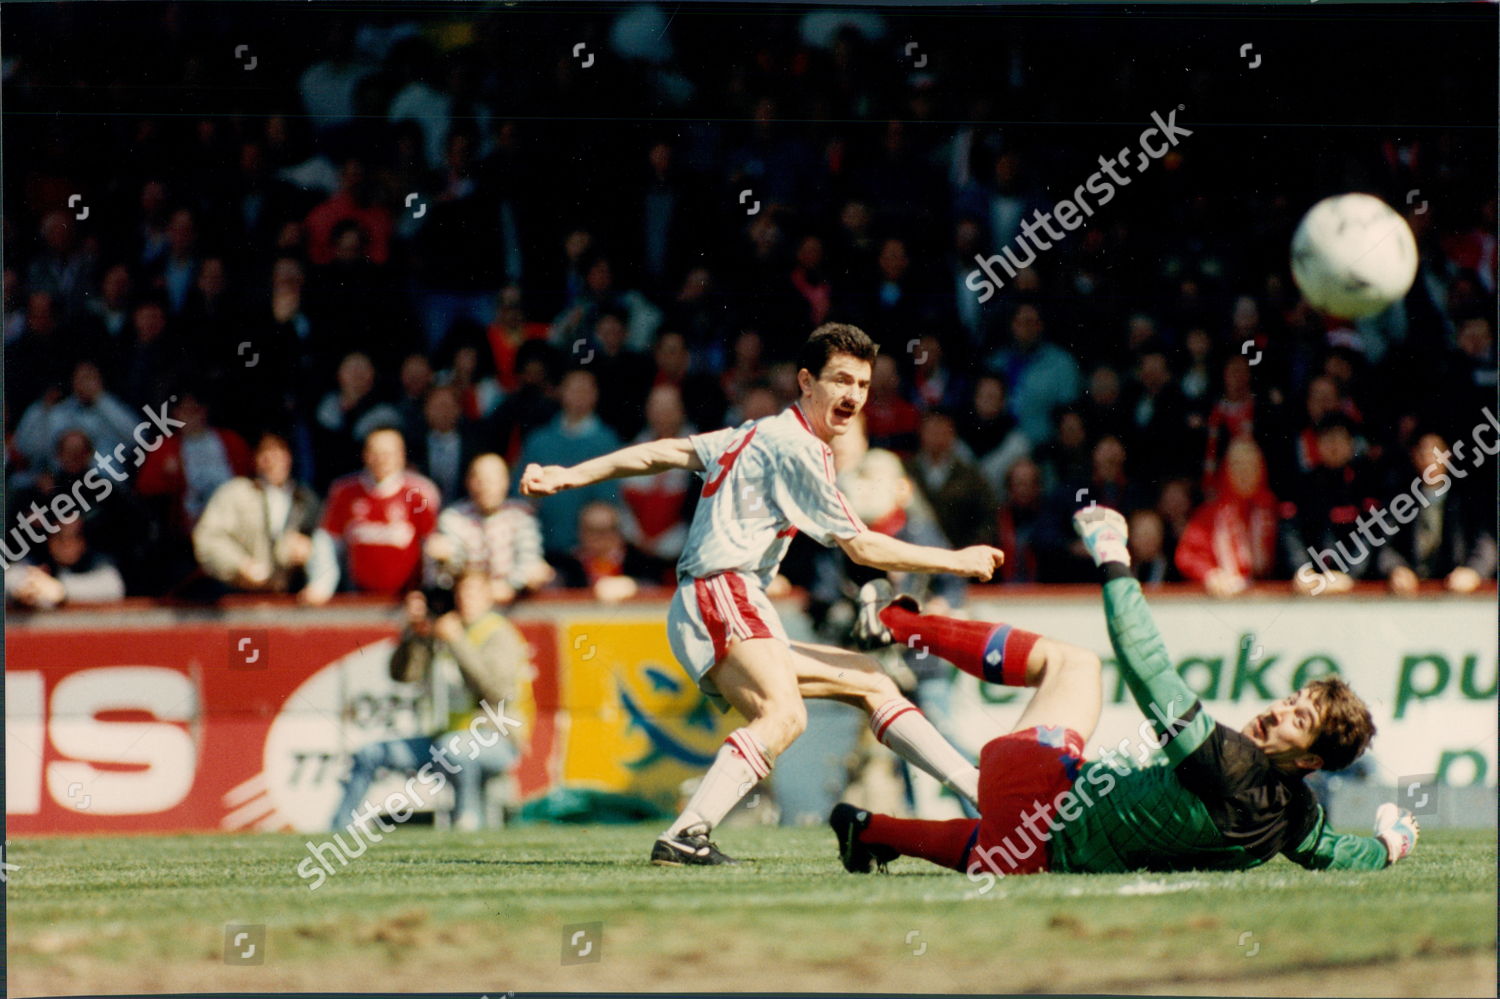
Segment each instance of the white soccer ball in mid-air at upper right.
[{"label": "white soccer ball in mid-air at upper right", "polygon": [[1318,312],[1344,320],[1374,315],[1412,288],[1416,238],[1380,198],[1323,198],[1292,237],[1292,278]]}]

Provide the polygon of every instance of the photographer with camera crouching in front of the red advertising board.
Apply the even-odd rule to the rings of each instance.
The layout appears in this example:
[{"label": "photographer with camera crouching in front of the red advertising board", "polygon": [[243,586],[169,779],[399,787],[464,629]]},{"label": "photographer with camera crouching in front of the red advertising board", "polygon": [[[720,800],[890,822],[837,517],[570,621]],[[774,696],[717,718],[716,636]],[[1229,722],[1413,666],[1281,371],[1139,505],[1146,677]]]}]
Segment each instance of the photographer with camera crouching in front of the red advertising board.
[{"label": "photographer with camera crouching in front of the red advertising board", "polygon": [[434,618],[420,591],[406,594],[406,627],[390,657],[390,678],[423,686],[418,712],[434,735],[360,747],[344,778],[334,830],[358,820],[382,770],[414,774],[440,758],[453,778],[454,825],[478,830],[484,782],[520,759],[516,734],[508,726],[496,729],[490,711],[504,717],[507,705],[514,710],[531,686],[536,670],[526,639],[495,612],[483,572],[459,578],[453,603],[453,610]]}]

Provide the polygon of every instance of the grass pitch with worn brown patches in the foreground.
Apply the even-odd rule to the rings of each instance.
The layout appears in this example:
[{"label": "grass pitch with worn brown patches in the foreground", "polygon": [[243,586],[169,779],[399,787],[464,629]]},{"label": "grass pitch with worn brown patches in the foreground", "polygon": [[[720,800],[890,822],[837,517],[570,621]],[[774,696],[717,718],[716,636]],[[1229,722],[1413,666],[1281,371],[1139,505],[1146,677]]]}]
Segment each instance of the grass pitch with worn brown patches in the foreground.
[{"label": "grass pitch with worn brown patches in the foreground", "polygon": [[[399,830],[318,891],[306,837],[12,840],[10,994],[1496,994],[1492,832],[1432,831],[1380,873],[1276,860],[982,896],[912,860],[849,876],[826,830],[724,830],[753,862],[718,870],[648,866],[656,832]],[[266,927],[262,963],[225,963],[231,922]],[[588,922],[598,960],[564,964],[564,927]]]}]

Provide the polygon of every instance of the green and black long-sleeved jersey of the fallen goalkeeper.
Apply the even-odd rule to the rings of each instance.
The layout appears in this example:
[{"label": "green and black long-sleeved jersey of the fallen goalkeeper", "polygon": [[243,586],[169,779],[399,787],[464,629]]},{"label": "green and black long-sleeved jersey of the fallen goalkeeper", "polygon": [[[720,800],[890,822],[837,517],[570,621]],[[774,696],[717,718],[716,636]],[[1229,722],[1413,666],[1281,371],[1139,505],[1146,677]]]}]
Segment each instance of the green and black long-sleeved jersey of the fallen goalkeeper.
[{"label": "green and black long-sleeved jersey of the fallen goalkeeper", "polygon": [[1276,854],[1316,870],[1386,866],[1384,843],[1330,832],[1300,777],[1208,716],[1172,668],[1140,584],[1116,574],[1104,585],[1104,610],[1125,684],[1164,760],[1083,765],[1071,800],[1058,804],[1052,870],[1240,870]]}]

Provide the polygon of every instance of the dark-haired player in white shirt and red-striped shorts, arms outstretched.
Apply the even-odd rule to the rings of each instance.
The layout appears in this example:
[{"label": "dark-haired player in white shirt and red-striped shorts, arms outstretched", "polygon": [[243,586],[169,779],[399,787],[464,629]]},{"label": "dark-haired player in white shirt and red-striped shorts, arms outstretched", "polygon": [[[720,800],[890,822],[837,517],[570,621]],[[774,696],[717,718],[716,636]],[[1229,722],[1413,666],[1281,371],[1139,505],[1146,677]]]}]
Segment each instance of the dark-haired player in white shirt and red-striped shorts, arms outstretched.
[{"label": "dark-haired player in white shirt and red-striped shorts, arms outstretched", "polygon": [[888,572],[982,580],[1005,558],[987,544],[954,552],[870,531],[838,492],[828,442],[864,408],[876,350],[858,327],[826,322],[813,330],[798,358],[801,398],[777,416],[634,444],[570,468],[532,464],[522,474],[520,492],[528,496],[668,468],[704,478],[676,567],[668,638],[704,693],[738,708],[746,724],[729,734],[682,814],[656,842],[654,864],[735,862],[708,834],[807,728],[802,698],[861,708],[880,742],[975,802],[978,770],[872,657],[788,640],[765,596],[798,531],[824,546],[838,544],[861,566]]}]

